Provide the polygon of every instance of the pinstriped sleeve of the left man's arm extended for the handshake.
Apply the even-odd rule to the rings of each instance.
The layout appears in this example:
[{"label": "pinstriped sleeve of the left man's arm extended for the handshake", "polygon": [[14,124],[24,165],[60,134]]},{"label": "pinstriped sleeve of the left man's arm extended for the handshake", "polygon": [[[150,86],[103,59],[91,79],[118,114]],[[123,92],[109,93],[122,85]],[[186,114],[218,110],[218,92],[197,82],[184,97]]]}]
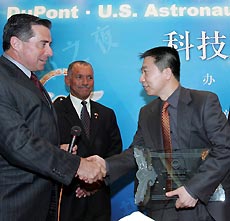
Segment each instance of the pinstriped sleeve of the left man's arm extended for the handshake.
[{"label": "pinstriped sleeve of the left man's arm extended for the handshake", "polygon": [[[22,173],[30,171],[69,184],[80,158],[59,149],[52,110],[36,94],[15,82],[3,79],[0,93],[0,162],[6,173],[9,168],[20,168]],[[7,174],[2,175],[3,179],[4,176],[7,178]]]}]

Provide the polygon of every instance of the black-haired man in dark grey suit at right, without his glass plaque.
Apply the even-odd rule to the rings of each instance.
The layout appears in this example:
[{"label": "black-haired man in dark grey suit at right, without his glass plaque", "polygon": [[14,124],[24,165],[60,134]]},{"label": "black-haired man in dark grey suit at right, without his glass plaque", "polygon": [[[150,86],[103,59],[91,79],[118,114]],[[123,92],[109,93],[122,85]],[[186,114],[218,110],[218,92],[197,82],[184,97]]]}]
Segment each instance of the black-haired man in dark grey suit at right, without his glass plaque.
[{"label": "black-haired man in dark grey suit at right, without his glass plaque", "polygon": [[[166,193],[167,200],[149,201],[145,206],[147,214],[157,221],[228,221],[230,126],[217,95],[180,85],[180,59],[173,48],[153,48],[144,52],[141,58],[144,60],[140,82],[148,95],[158,98],[141,108],[131,147],[106,159],[110,182],[136,168],[133,155],[135,145],[164,152],[161,111],[167,101],[172,153],[199,148],[208,149],[208,152],[202,155],[200,166],[193,165],[198,168],[193,177]],[[105,164],[102,159],[101,163]],[[158,183],[155,183],[153,193],[157,186]],[[222,199],[210,201],[218,186],[224,190]],[[177,199],[170,199],[173,196]]]}]

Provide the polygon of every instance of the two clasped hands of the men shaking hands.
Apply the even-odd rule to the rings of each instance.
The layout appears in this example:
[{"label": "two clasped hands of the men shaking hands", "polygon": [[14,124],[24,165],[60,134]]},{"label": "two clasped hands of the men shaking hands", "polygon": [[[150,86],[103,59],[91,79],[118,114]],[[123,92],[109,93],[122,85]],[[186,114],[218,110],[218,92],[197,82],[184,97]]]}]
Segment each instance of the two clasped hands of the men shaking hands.
[{"label": "two clasped hands of the men shaking hands", "polygon": [[81,162],[75,175],[85,183],[94,183],[103,180],[106,176],[105,160],[97,155],[81,158]]}]

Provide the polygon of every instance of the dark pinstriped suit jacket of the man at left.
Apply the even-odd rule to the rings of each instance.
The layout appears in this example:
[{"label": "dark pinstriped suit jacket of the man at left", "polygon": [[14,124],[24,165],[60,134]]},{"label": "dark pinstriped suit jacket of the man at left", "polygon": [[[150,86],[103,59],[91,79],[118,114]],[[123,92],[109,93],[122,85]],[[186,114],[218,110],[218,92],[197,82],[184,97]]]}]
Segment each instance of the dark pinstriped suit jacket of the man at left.
[{"label": "dark pinstriped suit jacket of the man at left", "polygon": [[[51,102],[4,57],[0,94],[0,220],[44,221],[55,186],[52,180],[69,184],[79,157],[59,149]],[[57,192],[54,200],[56,215]]]}]

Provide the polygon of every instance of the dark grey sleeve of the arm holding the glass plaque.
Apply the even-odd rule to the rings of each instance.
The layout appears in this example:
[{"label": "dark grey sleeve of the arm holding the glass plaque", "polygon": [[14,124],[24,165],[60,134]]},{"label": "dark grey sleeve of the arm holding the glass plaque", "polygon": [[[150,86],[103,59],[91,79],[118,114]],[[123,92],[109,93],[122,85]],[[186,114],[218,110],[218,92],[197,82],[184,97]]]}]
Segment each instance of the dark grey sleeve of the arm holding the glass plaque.
[{"label": "dark grey sleeve of the arm holding the glass plaque", "polygon": [[218,97],[213,93],[206,97],[201,115],[202,126],[199,130],[205,130],[211,148],[198,173],[187,183],[186,188],[207,203],[217,186],[224,183],[229,172],[230,126]]}]

